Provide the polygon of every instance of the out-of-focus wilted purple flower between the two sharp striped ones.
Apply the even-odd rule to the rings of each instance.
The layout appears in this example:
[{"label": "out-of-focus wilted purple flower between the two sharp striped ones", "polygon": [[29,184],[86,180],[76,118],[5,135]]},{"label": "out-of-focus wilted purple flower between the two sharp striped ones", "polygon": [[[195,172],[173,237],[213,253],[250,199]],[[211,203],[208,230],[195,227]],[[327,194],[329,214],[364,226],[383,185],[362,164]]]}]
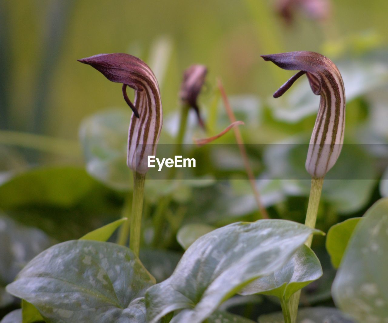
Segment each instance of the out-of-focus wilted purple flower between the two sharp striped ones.
[{"label": "out-of-focus wilted purple flower between the two sharp striped ones", "polygon": [[183,74],[183,82],[180,89],[180,99],[185,105],[195,110],[198,122],[203,128],[205,125],[199,113],[197,98],[205,82],[207,72],[208,70],[204,65],[191,65]]}]

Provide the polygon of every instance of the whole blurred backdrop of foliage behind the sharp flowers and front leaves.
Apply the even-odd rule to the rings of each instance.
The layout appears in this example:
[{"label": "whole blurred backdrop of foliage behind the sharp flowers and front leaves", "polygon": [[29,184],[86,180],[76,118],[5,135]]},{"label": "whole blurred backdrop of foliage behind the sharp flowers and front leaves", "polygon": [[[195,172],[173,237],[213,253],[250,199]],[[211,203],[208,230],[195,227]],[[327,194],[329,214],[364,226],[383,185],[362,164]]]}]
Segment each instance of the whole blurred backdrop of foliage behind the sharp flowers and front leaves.
[{"label": "whole blurred backdrop of foliage behind the sharp flowers and front leaves", "polygon": [[[125,165],[131,112],[121,85],[77,59],[122,52],[150,65],[163,102],[162,155],[168,151],[163,144],[175,143],[183,71],[206,65],[199,106],[208,133],[191,111],[185,143],[229,125],[216,86],[220,77],[245,122],[239,129],[270,217],[303,222],[310,179],[306,147],[298,143],[308,143],[319,97],[301,78],[272,98],[293,72],[260,55],[310,50],[331,58],[344,79],[347,107],[345,145],[325,178],[317,220],[327,232],[388,196],[387,12],[386,0],[0,0],[0,229],[9,228],[0,230],[0,317],[19,306],[5,285],[52,238],[78,239],[116,220],[131,195]],[[280,141],[291,144],[255,145]],[[158,281],[183,253],[179,232],[197,237],[260,218],[235,142],[229,133],[217,141],[225,145],[185,146],[185,155],[197,158],[188,176],[196,180],[146,181],[140,258]],[[333,305],[335,270],[324,242],[314,238],[324,276],[304,290],[303,305]],[[15,244],[26,246],[23,257]],[[279,309],[265,302],[261,314]]]}]

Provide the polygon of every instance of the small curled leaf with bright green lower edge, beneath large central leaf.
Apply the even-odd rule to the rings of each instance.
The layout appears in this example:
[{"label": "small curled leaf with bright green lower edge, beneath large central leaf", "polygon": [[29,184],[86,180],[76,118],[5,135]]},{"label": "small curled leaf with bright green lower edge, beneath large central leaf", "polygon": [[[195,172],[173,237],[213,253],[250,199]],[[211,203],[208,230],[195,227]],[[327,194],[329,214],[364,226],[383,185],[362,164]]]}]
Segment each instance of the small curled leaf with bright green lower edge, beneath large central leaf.
[{"label": "small curled leaf with bright green lower edge, beneath large central leaf", "polygon": [[239,294],[265,294],[288,301],[292,294],[321,276],[319,259],[309,247],[303,245],[282,268],[256,279]]}]

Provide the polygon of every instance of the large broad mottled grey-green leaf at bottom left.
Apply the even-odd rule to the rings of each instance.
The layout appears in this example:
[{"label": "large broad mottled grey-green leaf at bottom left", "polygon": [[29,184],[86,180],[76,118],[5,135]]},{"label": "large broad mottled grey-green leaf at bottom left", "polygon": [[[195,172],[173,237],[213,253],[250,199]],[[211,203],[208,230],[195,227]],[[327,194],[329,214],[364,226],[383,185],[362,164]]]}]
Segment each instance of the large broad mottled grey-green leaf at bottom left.
[{"label": "large broad mottled grey-green leaf at bottom left", "polygon": [[7,291],[49,323],[145,321],[145,290],[155,279],[126,247],[76,240],[36,256]]}]

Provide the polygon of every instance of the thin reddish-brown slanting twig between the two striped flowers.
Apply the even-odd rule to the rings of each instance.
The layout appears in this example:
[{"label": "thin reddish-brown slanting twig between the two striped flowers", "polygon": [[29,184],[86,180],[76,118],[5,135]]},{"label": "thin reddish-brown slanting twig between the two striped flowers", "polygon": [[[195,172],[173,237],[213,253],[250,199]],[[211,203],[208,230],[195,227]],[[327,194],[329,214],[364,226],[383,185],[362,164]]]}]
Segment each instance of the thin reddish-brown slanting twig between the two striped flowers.
[{"label": "thin reddish-brown slanting twig between the two striped flowers", "polygon": [[[218,88],[220,89],[222,100],[223,100],[223,104],[225,106],[225,110],[226,110],[226,112],[228,114],[230,122],[232,122],[232,123],[236,122],[236,117],[234,116],[232,107],[230,107],[230,103],[229,103],[228,97],[227,97],[227,95],[225,93],[225,89],[223,88],[223,85],[222,85],[222,82],[221,82],[220,79],[217,80],[217,85],[218,85]],[[240,129],[239,129],[239,127],[234,127],[233,131],[234,131],[234,136],[236,137],[237,144],[238,144],[239,149],[240,149],[240,153],[241,153],[242,159],[244,161],[245,170],[246,170],[246,173],[248,175],[248,179],[249,179],[249,182],[251,184],[251,187],[252,187],[252,190],[253,190],[253,195],[255,196],[257,206],[258,206],[258,208],[260,210],[262,218],[263,219],[268,219],[269,216],[268,216],[267,210],[265,210],[265,207],[263,206],[263,203],[262,203],[262,201],[260,199],[260,193],[259,193],[259,191],[258,191],[258,189],[256,187],[255,175],[253,175],[253,171],[252,171],[251,165],[249,165],[248,154],[246,153],[246,149],[245,149],[245,146],[244,146],[244,141],[242,140]]]}]

